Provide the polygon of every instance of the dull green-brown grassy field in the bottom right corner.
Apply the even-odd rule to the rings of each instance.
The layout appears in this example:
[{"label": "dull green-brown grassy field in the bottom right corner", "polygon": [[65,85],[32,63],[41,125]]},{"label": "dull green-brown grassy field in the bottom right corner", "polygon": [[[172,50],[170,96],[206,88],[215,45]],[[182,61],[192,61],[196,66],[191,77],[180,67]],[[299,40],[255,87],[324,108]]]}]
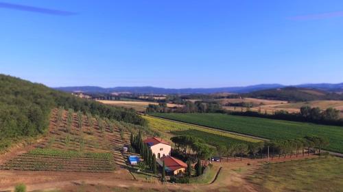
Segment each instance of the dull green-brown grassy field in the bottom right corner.
[{"label": "dull green-brown grassy field in the bottom right corner", "polygon": [[343,159],[337,157],[263,165],[248,180],[258,191],[342,191]]}]

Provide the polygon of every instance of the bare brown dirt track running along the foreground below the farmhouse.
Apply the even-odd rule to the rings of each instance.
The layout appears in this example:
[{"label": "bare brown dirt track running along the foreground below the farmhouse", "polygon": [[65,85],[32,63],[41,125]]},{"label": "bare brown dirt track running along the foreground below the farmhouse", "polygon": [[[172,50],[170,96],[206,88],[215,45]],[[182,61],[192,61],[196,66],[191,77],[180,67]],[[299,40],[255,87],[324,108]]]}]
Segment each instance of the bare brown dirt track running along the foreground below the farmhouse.
[{"label": "bare brown dirt track running along the foreground below the farmhouse", "polygon": [[[287,156],[270,159],[272,162],[290,161],[304,158],[316,158],[316,156]],[[14,185],[23,182],[27,185],[28,191],[65,189],[68,191],[78,191],[81,184],[91,187],[102,184],[105,187],[120,187],[137,189],[155,189],[157,191],[256,191],[254,185],[249,183],[245,177],[251,174],[259,166],[263,165],[267,159],[243,159],[234,161],[233,159],[223,159],[221,163],[213,163],[216,167],[222,167],[215,182],[211,184],[161,184],[161,182],[148,183],[145,180],[133,180],[127,169],[117,169],[113,173],[95,174],[78,172],[25,172],[25,171],[0,171],[0,191],[8,191]],[[248,165],[249,164],[249,165]],[[104,188],[104,191],[106,191]]]}]

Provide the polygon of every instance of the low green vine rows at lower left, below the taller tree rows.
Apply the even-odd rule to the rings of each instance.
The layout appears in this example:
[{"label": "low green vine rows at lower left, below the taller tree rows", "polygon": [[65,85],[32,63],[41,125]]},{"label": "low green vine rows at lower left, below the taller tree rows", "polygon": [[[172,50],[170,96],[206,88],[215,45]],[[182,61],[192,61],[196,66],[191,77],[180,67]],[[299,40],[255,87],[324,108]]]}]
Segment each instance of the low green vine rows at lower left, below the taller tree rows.
[{"label": "low green vine rows at lower left, below the taller tree rows", "polygon": [[110,172],[115,169],[110,153],[32,150],[1,165],[1,169],[22,171]]}]

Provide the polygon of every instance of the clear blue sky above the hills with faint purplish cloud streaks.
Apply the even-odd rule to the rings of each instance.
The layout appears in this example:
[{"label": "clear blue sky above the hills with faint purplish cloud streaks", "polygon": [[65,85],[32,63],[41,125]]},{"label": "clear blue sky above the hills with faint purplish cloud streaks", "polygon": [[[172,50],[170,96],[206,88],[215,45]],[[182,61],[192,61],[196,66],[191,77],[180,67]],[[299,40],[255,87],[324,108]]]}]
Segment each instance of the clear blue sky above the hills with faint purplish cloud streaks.
[{"label": "clear blue sky above the hills with faint purplish cloud streaks", "polygon": [[0,73],[51,87],[343,82],[341,0],[0,0],[0,24]]}]

